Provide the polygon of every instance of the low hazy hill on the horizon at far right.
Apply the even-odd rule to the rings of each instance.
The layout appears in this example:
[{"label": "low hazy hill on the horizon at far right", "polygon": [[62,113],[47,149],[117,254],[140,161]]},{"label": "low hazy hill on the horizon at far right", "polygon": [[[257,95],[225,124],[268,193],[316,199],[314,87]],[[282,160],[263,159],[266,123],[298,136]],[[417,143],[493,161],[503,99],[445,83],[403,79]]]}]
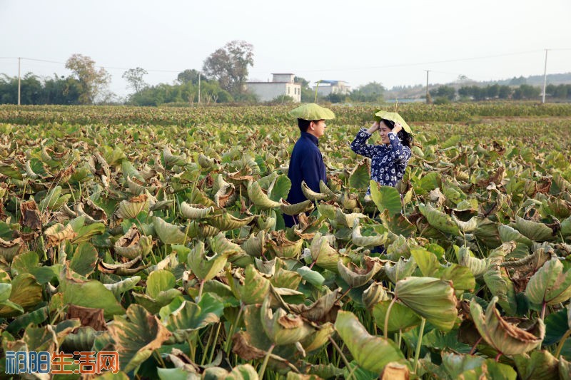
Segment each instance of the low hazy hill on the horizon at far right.
[{"label": "low hazy hill on the horizon at far right", "polygon": [[[458,81],[453,81],[450,83],[430,83],[428,85],[428,90],[433,90],[440,86],[451,86],[456,88],[463,86],[488,86],[492,84],[507,85],[507,86],[520,86],[520,84],[525,83],[531,86],[543,86],[543,76],[519,76],[508,79],[501,79],[500,81],[473,81],[470,78],[459,78]],[[560,74],[547,74],[547,84],[571,84],[571,73],[560,73]],[[385,91],[385,99],[391,98],[420,98],[425,96],[426,86],[418,84],[416,86],[395,86],[390,90]]]}]

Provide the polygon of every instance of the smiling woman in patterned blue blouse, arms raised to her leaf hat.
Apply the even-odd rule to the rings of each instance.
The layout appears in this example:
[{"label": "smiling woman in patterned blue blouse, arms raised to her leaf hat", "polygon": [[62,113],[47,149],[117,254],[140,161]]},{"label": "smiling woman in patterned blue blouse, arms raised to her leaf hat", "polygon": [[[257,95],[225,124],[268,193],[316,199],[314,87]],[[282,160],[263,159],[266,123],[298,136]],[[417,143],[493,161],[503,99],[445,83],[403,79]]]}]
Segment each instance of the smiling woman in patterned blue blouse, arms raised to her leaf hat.
[{"label": "smiling woman in patterned blue blouse, arms raised to her leaf hat", "polygon": [[[382,145],[370,145],[366,141],[378,130]],[[413,136],[400,123],[393,120],[381,119],[375,121],[368,129],[361,128],[351,143],[353,152],[371,159],[370,178],[379,185],[395,186],[403,179]],[[367,194],[370,195],[370,188]]]}]

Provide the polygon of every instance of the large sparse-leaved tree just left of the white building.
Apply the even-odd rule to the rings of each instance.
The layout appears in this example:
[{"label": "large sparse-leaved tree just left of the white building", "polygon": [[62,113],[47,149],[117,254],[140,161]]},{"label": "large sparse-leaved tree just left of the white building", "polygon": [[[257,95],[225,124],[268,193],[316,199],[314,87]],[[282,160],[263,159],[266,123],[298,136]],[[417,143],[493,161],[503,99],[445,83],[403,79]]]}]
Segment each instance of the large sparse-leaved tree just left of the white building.
[{"label": "large sparse-leaved tree just left of the white building", "polygon": [[253,66],[253,46],[246,41],[231,41],[218,48],[204,61],[203,71],[216,78],[226,91],[238,94],[244,92],[248,78],[248,66]]}]

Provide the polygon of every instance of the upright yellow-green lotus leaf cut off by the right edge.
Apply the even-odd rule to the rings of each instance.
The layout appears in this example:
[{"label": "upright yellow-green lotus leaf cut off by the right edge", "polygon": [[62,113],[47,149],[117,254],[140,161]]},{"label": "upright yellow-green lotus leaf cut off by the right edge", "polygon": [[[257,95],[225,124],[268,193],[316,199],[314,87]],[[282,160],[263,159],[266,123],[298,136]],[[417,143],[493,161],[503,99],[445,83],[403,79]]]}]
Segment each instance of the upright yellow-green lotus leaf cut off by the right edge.
[{"label": "upright yellow-green lotus leaf cut off by the right edge", "polygon": [[552,258],[533,274],[525,288],[525,295],[534,304],[559,304],[571,298],[571,270],[563,272],[563,265]]}]

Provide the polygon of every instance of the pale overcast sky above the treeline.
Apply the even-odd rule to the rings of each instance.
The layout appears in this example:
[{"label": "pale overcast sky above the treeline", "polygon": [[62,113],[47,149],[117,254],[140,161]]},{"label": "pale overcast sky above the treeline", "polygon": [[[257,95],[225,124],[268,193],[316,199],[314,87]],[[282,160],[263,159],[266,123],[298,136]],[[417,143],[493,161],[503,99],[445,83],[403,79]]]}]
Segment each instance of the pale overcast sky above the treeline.
[{"label": "pale overcast sky above the treeline", "polygon": [[[390,88],[571,71],[570,0],[0,0],[0,73],[68,75],[74,53],[121,74],[171,83],[232,40],[254,46],[250,79],[295,73]],[[555,50],[560,49],[560,50]],[[567,49],[567,50],[562,50]]]}]

